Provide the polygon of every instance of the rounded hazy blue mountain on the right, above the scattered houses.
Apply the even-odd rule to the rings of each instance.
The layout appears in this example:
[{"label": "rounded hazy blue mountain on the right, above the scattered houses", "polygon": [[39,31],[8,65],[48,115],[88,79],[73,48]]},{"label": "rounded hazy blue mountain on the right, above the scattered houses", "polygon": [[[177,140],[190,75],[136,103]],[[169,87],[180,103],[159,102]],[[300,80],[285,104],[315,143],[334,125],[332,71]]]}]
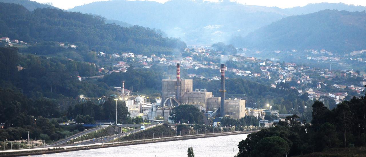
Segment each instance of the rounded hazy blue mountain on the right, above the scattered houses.
[{"label": "rounded hazy blue mountain on the right, above the scattered houses", "polygon": [[260,50],[362,50],[366,48],[366,12],[324,10],[287,17],[235,42]]}]

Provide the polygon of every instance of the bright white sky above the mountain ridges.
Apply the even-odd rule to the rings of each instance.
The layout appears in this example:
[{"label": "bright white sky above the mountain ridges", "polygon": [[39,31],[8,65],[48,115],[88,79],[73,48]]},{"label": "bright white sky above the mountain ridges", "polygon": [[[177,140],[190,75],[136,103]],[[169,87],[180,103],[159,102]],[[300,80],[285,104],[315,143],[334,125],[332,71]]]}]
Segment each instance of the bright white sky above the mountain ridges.
[{"label": "bright white sky above the mountain ridges", "polygon": [[[88,4],[94,1],[108,1],[108,0],[33,0],[39,3],[49,3],[51,2],[53,6],[61,9],[74,8],[75,6],[81,6],[83,4]],[[160,3],[164,3],[168,0],[153,0]],[[207,1],[218,1],[218,0],[207,0]],[[279,8],[290,8],[297,6],[305,6],[308,3],[345,3],[354,4],[358,6],[366,6],[366,0],[231,0],[238,1],[242,4],[247,5],[257,5],[257,6],[267,6],[267,7],[279,7]]]}]

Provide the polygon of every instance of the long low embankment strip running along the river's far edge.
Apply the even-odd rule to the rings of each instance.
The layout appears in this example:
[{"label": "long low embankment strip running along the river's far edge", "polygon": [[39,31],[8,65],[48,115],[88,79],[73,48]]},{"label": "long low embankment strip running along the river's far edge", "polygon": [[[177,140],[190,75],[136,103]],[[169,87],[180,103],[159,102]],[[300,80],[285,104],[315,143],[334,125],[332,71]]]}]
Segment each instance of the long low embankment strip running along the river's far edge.
[{"label": "long low embankment strip running along the river's far edge", "polygon": [[127,145],[139,145],[139,144],[145,144],[145,143],[167,142],[167,141],[174,141],[174,140],[208,138],[208,137],[237,135],[237,134],[251,134],[251,133],[257,132],[257,131],[235,131],[235,132],[223,132],[223,133],[214,133],[214,134],[173,136],[173,137],[165,137],[165,138],[142,139],[142,140],[132,140],[132,141],[124,141],[124,142],[114,142],[114,143],[97,143],[97,144],[93,144],[93,145],[81,145],[81,146],[49,147],[49,148],[22,149],[22,150],[3,150],[3,151],[0,151],[0,156],[7,157],[7,156],[27,156],[27,155],[61,153],[61,152],[67,152],[67,151],[98,149],[98,148],[127,146]]}]

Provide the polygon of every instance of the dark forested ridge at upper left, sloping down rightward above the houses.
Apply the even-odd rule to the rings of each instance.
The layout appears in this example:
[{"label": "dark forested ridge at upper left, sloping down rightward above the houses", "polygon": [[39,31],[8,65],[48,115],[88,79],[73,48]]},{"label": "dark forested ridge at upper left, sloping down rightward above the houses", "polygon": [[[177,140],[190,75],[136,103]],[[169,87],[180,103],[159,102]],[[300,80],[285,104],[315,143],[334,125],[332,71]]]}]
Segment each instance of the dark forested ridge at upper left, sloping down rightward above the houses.
[{"label": "dark forested ridge at upper left, sloping down rightward above the houses", "polygon": [[163,38],[153,29],[105,24],[105,19],[98,16],[59,9],[29,11],[10,3],[0,3],[0,36],[29,44],[48,41],[70,43],[77,46],[79,53],[95,48],[107,53],[172,54],[186,47],[183,41]]}]

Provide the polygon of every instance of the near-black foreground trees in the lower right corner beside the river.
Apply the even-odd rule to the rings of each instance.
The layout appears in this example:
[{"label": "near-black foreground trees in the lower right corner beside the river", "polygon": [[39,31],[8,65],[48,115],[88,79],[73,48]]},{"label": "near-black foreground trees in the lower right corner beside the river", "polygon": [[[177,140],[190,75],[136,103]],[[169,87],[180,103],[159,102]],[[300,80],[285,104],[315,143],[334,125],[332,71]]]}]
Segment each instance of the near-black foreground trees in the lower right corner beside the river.
[{"label": "near-black foreground trees in the lower right corner beside the river", "polygon": [[262,129],[239,142],[238,157],[296,156],[337,147],[366,145],[366,98],[352,98],[329,110],[315,101],[313,120],[299,122],[297,115],[288,116],[276,127]]}]

